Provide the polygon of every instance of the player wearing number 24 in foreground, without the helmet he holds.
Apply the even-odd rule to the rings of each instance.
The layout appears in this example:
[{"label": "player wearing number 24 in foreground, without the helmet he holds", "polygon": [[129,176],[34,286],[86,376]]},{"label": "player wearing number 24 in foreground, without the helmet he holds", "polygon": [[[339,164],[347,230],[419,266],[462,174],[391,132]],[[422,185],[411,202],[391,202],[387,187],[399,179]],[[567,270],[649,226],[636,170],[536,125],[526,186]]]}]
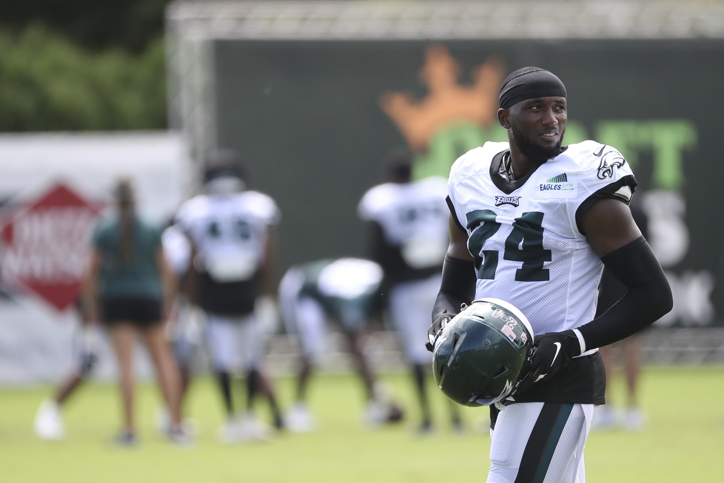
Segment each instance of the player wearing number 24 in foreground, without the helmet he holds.
[{"label": "player wearing number 24 in foreground, without the helmet he holds", "polygon": [[[491,406],[487,481],[584,482],[584,443],[604,403],[597,350],[670,311],[671,290],[628,210],[636,180],[623,156],[591,140],[562,146],[558,77],[508,75],[497,119],[508,142],[468,151],[450,170],[450,248],[427,345],[473,298],[517,307],[535,350],[516,392]],[[596,317],[604,265],[627,292]]]}]

